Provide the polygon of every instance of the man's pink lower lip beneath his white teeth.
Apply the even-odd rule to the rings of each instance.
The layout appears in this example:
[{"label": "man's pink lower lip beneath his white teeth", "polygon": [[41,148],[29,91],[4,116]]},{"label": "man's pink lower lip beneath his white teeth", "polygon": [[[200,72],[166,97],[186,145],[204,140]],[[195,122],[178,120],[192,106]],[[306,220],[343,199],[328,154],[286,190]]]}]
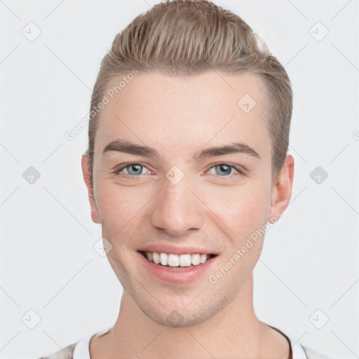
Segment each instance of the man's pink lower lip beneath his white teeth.
[{"label": "man's pink lower lip beneath his white teeth", "polygon": [[150,262],[148,259],[144,258],[140,252],[138,255],[140,256],[140,263],[143,264],[145,270],[149,271],[149,273],[163,282],[170,284],[187,284],[198,280],[205,274],[205,271],[210,269],[210,266],[212,266],[214,260],[217,258],[210,258],[205,263],[198,264],[198,266],[172,269],[169,266],[162,266],[161,264]]}]

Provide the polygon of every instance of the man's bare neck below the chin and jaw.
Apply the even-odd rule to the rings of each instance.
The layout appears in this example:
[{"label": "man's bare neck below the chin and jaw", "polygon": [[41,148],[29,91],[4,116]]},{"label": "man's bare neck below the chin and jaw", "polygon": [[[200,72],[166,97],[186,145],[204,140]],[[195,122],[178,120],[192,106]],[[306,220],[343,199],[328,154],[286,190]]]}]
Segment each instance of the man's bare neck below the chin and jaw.
[{"label": "man's bare neck below the chin and jaw", "polygon": [[[252,273],[229,304],[191,327],[166,327],[154,322],[124,292],[116,323],[101,339],[102,348],[107,349],[93,349],[91,358],[97,358],[95,353],[101,353],[101,358],[259,358],[269,330],[255,316]],[[280,340],[283,347],[283,337]],[[91,344],[94,348],[95,343]]]}]

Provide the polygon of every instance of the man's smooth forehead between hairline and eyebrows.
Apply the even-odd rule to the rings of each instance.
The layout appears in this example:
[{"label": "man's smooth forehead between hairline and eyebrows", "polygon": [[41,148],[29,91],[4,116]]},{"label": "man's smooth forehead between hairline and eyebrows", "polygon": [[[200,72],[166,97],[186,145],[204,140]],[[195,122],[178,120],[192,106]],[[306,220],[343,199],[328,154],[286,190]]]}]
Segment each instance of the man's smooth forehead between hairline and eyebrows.
[{"label": "man's smooth forehead between hairline and eyebrows", "polygon": [[238,141],[270,152],[263,83],[257,76],[140,73],[120,87],[121,80],[114,77],[107,86],[109,103],[100,114],[95,153],[118,138],[188,156],[207,143]]}]

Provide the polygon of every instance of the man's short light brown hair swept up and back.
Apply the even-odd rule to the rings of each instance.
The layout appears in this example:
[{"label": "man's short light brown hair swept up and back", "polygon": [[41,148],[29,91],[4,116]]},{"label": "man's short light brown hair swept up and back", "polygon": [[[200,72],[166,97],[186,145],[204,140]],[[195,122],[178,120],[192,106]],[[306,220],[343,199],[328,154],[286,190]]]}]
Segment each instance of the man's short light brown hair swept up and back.
[{"label": "man's short light brown hair swept up and back", "polygon": [[[93,181],[94,141],[100,118],[97,105],[110,79],[140,72],[192,76],[212,70],[257,74],[264,83],[270,113],[272,175],[283,166],[289,144],[292,88],[273,55],[257,55],[252,29],[238,15],[206,0],[167,0],[138,15],[119,32],[101,62],[93,88],[88,127],[89,175]],[[239,100],[239,99],[238,99]],[[272,178],[273,178],[272,177]]]}]

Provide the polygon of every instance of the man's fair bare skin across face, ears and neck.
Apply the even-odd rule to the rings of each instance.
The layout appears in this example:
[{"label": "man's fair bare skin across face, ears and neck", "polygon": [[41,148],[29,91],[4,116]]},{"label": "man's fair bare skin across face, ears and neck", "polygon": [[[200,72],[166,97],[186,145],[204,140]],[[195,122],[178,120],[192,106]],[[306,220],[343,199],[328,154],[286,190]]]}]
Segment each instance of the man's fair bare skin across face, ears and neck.
[{"label": "man's fair bare skin across face, ears and neck", "polygon": [[[267,220],[275,222],[292,194],[292,156],[272,182],[262,87],[250,74],[211,71],[181,79],[141,73],[102,109],[93,186],[87,156],[81,164],[91,218],[102,224],[102,236],[112,245],[107,258],[123,297],[114,327],[90,341],[92,359],[287,358],[285,338],[253,308],[252,271],[264,236],[217,283],[208,280]],[[248,114],[237,105],[246,93],[257,102]],[[153,147],[161,160],[118,151],[103,155],[104,147],[119,138]],[[194,159],[196,151],[239,141],[260,158],[236,153]],[[114,173],[130,163],[144,167]],[[220,163],[246,171],[223,170]],[[165,177],[173,165],[184,173],[177,184]],[[194,283],[165,285],[138,260],[137,250],[149,243],[195,244],[218,256]],[[180,313],[179,326],[166,320],[172,311]]]}]

